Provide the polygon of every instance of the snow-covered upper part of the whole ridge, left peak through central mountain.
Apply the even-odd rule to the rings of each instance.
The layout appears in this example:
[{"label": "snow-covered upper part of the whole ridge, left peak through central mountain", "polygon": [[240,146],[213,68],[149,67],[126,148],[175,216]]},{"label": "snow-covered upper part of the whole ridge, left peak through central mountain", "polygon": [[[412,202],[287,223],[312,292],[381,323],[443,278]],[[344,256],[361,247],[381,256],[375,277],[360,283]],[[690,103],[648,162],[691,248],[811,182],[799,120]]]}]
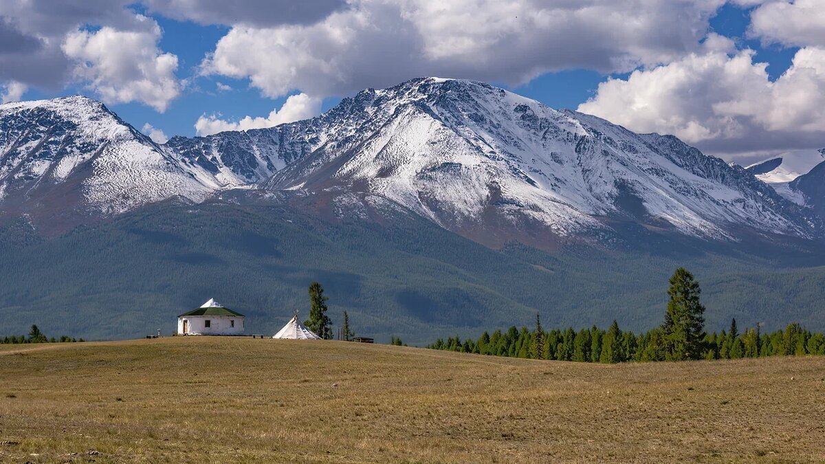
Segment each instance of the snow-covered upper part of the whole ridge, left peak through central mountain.
[{"label": "snow-covered upper part of the whole ridge, left peak through central mountain", "polygon": [[[291,192],[337,215],[406,211],[475,236],[576,237],[640,223],[711,239],[810,237],[818,220],[744,168],[485,83],[418,78],[307,121],[154,144],[101,103],[0,106],[0,211],[103,214],[230,188]],[[492,231],[492,232],[491,232]]]}]

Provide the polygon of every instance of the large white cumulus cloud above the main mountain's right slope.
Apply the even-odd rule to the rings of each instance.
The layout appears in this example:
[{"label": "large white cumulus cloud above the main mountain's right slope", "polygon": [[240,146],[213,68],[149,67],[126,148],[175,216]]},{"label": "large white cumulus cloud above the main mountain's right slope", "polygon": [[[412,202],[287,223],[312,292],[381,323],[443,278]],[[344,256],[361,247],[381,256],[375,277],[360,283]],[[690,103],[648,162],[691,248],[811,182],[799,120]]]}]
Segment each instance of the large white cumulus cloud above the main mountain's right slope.
[{"label": "large white cumulus cloud above the main mountain's right slope", "polygon": [[705,50],[601,83],[579,111],[673,134],[728,158],[825,145],[825,49],[799,50],[772,82],[752,50]]}]

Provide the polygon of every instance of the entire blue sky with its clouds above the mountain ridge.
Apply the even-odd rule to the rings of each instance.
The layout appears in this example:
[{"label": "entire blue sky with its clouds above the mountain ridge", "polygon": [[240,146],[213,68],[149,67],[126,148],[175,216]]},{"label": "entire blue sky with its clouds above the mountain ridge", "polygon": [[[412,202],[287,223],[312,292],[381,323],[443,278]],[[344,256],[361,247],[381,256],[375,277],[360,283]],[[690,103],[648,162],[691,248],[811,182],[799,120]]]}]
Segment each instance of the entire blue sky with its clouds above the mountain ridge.
[{"label": "entire blue sky with its clouds above the mountain ridge", "polygon": [[[95,97],[138,129],[171,137],[313,116],[361,88],[422,75],[474,78],[757,159],[825,146],[825,116],[793,99],[794,88],[825,82],[825,64],[816,72],[825,25],[810,10],[819,2],[648,0],[644,12],[634,0],[4,2],[0,37],[12,39],[0,47],[0,86],[5,101]],[[73,9],[52,14],[49,3]],[[50,44],[31,63],[21,59],[27,37]],[[798,53],[813,71],[783,77]],[[54,79],[24,70],[39,66],[55,69]],[[305,98],[285,106],[290,96]],[[238,124],[247,116],[260,119]]]}]

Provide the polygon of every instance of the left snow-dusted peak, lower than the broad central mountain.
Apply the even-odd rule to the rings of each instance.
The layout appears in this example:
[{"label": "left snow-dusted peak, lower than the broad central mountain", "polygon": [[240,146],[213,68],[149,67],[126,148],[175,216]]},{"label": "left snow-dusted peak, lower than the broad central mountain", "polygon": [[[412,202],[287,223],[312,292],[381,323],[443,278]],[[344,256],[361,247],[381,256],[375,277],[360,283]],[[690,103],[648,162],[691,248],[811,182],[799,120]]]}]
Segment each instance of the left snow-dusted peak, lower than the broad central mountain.
[{"label": "left snow-dusted peak, lower than the broad central mountain", "polygon": [[0,106],[0,207],[104,214],[218,187],[100,102],[66,97]]}]

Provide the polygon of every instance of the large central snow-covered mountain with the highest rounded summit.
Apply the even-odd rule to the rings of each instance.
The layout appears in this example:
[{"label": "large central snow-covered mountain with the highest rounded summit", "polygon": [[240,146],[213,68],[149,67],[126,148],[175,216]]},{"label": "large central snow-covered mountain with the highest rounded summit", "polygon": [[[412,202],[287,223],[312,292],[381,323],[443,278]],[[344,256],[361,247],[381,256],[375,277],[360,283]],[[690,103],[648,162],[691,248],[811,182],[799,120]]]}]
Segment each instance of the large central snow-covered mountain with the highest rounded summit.
[{"label": "large central snow-covered mountain with the highest rounded summit", "polygon": [[315,121],[310,153],[266,187],[391,201],[458,230],[503,220],[571,236],[630,218],[709,238],[742,226],[811,233],[798,207],[741,167],[484,83],[368,89]]}]

